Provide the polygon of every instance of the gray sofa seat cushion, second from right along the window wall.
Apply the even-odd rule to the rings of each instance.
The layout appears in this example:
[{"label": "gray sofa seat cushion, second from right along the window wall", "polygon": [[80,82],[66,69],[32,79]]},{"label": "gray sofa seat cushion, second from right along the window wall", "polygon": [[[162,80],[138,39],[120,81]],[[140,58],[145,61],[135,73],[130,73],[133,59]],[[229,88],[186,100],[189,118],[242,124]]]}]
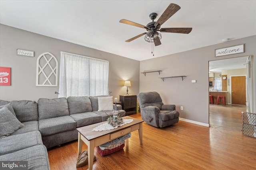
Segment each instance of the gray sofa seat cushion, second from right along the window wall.
[{"label": "gray sofa seat cushion, second from right along the window wall", "polygon": [[101,122],[101,116],[93,112],[77,113],[70,116],[76,121],[76,127]]}]

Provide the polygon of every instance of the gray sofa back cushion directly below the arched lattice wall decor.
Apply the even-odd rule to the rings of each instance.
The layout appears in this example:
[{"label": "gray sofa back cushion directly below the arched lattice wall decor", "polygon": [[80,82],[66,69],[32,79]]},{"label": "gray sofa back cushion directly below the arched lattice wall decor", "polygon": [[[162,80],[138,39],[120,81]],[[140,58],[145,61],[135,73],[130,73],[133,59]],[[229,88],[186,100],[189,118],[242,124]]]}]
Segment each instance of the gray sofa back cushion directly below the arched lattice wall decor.
[{"label": "gray sofa back cushion directly below the arched lattice wall decor", "polygon": [[69,115],[67,99],[38,99],[38,115],[38,120]]}]

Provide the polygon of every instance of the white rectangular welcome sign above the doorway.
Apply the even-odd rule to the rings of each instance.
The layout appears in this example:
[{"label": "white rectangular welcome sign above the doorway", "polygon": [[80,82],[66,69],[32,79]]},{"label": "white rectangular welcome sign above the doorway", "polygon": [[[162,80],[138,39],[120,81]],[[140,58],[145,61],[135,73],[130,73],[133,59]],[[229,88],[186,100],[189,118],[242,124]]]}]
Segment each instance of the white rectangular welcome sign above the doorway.
[{"label": "white rectangular welcome sign above the doorway", "polygon": [[233,47],[226,47],[223,49],[216,49],[215,57],[220,57],[223,55],[230,55],[230,54],[237,54],[237,53],[244,53],[244,44],[236,45]]}]

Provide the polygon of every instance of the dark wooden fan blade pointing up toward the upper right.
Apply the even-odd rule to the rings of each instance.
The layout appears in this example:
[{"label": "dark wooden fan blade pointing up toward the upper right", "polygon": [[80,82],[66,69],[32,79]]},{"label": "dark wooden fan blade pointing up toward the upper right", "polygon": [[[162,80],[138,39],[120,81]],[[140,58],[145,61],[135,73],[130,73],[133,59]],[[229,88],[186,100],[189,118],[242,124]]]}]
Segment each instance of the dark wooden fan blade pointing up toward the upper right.
[{"label": "dark wooden fan blade pointing up toward the upper right", "polygon": [[173,16],[178,10],[180,10],[180,6],[178,6],[177,4],[170,4],[166,10],[164,11],[164,13],[162,14],[162,16],[160,16],[160,18],[156,21],[156,23],[154,24],[155,27],[157,26],[158,28],[160,28],[160,26],[167,21],[171,16]]}]

